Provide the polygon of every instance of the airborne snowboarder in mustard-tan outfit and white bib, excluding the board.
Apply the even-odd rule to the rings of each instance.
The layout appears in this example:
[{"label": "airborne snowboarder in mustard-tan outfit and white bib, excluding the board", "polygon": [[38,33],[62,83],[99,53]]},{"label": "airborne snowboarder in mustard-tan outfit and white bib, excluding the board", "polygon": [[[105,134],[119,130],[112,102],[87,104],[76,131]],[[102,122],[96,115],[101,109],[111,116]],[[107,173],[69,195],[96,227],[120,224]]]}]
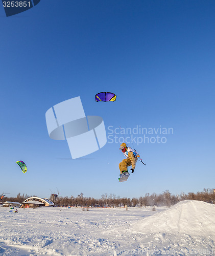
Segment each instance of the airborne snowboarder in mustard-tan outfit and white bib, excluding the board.
[{"label": "airborne snowboarder in mustard-tan outfit and white bib, excluding the board", "polygon": [[128,166],[130,165],[132,171],[131,173],[133,174],[137,161],[137,157],[133,155],[134,150],[132,150],[131,147],[127,147],[126,143],[122,143],[119,149],[122,150],[124,156],[126,157],[126,159],[123,159],[123,161],[118,165],[120,168],[120,174],[128,173]]}]

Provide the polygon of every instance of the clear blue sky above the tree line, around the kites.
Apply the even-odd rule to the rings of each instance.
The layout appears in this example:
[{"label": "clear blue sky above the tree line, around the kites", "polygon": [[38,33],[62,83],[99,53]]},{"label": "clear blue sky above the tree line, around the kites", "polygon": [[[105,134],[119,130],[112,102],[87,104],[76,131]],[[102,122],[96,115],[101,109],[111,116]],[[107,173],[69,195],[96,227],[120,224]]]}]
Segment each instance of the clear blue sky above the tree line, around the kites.
[{"label": "clear blue sky above the tree line, around the kites", "polygon": [[[212,0],[41,0],[10,17],[1,6],[0,193],[132,198],[215,188],[214,13]],[[116,101],[95,102],[102,91]],[[120,142],[73,160],[66,141],[49,138],[45,112],[77,96],[107,135],[109,126],[174,132],[166,143],[130,144],[147,166],[118,183]]]}]

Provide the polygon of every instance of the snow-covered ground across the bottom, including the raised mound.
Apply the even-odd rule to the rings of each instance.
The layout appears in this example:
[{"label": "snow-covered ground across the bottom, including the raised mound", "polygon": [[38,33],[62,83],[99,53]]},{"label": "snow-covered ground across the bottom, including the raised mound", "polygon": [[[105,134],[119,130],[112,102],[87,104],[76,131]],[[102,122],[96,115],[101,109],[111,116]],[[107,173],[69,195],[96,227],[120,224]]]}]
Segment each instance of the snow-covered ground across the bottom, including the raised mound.
[{"label": "snow-covered ground across the bottom, including the raised mound", "polygon": [[215,206],[0,208],[0,255],[215,255]]}]

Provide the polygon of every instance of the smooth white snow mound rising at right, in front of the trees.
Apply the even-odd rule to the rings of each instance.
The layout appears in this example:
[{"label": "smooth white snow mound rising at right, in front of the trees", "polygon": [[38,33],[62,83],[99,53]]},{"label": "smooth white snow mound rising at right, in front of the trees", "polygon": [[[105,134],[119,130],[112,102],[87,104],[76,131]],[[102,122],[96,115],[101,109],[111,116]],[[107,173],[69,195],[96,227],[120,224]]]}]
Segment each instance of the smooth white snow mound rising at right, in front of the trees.
[{"label": "smooth white snow mound rising at right, in front of the trees", "polygon": [[168,210],[137,221],[135,233],[215,234],[215,206],[202,201],[185,200]]}]

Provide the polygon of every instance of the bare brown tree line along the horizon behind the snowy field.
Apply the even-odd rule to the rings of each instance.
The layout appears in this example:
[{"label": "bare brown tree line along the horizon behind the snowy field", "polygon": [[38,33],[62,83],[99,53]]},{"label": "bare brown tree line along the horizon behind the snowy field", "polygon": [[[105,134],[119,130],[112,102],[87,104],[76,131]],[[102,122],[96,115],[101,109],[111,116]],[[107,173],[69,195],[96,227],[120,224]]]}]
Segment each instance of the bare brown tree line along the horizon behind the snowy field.
[{"label": "bare brown tree line along the horizon behind the snowy field", "polygon": [[[12,201],[22,203],[29,196],[17,195],[16,198],[4,197],[2,202]],[[73,207],[122,207],[128,205],[129,207],[144,207],[144,206],[171,206],[183,200],[199,200],[207,203],[215,204],[215,193],[213,189],[204,188],[202,192],[195,193],[181,193],[180,195],[172,195],[169,190],[165,190],[162,194],[152,195],[146,194],[144,197],[139,198],[120,198],[114,194],[104,194],[100,199],[92,197],[84,197],[80,193],[77,197],[61,197],[59,196],[54,202],[55,206],[73,206]]]}]

